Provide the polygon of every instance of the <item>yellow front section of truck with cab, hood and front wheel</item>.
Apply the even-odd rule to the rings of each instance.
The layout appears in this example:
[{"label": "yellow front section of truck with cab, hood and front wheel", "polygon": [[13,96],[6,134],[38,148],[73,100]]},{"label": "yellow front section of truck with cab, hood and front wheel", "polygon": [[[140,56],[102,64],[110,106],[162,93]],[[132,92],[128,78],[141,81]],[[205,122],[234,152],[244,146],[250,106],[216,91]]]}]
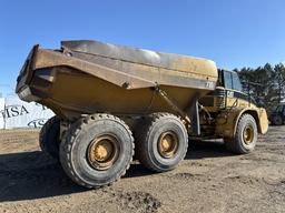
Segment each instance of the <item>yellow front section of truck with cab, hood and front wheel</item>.
[{"label": "yellow front section of truck with cab, hood and front wheel", "polygon": [[248,153],[257,134],[267,132],[267,113],[242,91],[237,72],[218,70],[216,89],[198,102],[200,138],[222,138],[229,151]]}]

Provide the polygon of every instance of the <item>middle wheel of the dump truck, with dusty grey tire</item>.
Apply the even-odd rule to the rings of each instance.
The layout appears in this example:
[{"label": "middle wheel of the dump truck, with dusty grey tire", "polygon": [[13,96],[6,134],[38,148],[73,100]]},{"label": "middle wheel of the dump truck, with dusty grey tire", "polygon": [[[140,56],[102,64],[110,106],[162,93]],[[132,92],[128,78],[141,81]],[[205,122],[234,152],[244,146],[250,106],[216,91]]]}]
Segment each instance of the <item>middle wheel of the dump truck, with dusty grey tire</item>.
[{"label": "middle wheel of the dump truck, with dusty grey tire", "polygon": [[154,113],[142,119],[135,139],[140,163],[156,172],[175,169],[188,148],[185,125],[179,118],[169,113]]}]

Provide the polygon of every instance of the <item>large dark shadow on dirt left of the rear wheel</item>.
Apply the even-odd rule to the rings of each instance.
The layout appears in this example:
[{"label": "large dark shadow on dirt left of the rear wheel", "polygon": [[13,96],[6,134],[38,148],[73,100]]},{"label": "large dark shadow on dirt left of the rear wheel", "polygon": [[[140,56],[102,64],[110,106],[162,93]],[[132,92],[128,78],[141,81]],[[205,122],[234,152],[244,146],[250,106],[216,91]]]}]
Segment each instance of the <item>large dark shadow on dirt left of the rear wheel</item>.
[{"label": "large dark shadow on dirt left of the rear wheel", "polygon": [[60,164],[40,151],[0,155],[0,202],[41,199],[85,191]]}]

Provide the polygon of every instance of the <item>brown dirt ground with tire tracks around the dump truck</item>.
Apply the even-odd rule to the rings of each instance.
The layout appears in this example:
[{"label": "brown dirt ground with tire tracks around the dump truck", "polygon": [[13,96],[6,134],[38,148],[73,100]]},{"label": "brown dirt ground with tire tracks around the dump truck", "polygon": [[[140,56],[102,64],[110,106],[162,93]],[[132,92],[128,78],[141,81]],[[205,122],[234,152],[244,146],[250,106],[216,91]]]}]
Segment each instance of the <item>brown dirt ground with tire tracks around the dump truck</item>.
[{"label": "brown dirt ground with tire tracks around the dump truck", "polygon": [[247,155],[196,142],[171,172],[135,162],[112,186],[86,190],[39,150],[37,130],[0,131],[0,212],[285,212],[284,133],[271,128]]}]

